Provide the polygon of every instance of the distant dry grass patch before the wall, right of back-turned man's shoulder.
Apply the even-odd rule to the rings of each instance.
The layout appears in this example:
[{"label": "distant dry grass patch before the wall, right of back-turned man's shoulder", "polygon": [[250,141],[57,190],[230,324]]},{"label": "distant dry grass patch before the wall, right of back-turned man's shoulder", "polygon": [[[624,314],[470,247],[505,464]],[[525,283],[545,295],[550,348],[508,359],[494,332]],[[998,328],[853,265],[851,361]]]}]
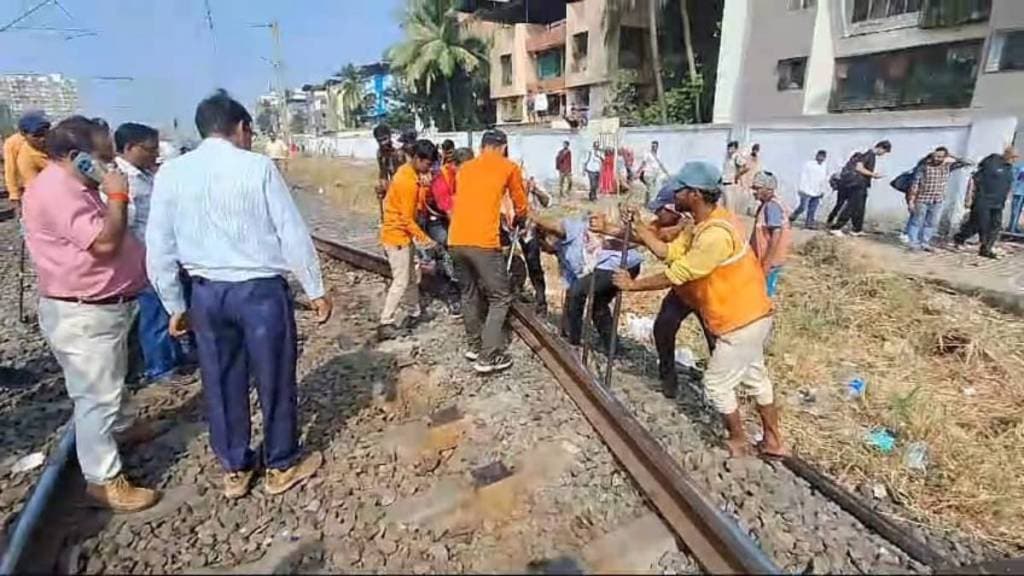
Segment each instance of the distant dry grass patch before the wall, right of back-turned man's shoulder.
[{"label": "distant dry grass patch before the wall, right of back-turned man's shoulder", "polygon": [[324,191],[343,213],[377,214],[380,205],[374,187],[377,165],[340,158],[294,158],[289,162],[288,181],[306,190]]}]

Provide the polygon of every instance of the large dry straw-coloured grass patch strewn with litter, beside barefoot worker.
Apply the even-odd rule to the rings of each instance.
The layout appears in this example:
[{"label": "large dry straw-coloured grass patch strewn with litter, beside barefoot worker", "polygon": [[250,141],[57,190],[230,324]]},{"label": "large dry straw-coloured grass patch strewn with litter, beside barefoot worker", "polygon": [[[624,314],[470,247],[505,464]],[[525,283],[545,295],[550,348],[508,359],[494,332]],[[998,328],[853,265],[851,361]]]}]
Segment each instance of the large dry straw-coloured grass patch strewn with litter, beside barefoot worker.
[{"label": "large dry straw-coloured grass patch strewn with litter, beside barefoot worker", "polygon": [[[770,369],[790,441],[847,484],[884,484],[916,521],[1024,545],[1024,324],[852,250],[819,237],[786,266]],[[854,374],[867,392],[848,401]],[[892,454],[865,445],[874,426],[895,433]],[[925,474],[903,462],[919,441]]]}]

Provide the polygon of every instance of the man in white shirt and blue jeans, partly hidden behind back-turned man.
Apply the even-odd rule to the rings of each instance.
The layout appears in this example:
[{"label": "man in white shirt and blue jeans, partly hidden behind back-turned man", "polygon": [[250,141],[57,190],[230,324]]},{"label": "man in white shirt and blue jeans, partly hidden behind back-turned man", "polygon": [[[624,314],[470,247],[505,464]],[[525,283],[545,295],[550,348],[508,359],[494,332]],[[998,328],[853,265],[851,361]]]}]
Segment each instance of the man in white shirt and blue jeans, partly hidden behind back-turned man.
[{"label": "man in white shirt and blue jeans, partly hidden behind back-turned man", "polygon": [[[118,126],[114,143],[118,152],[114,163],[128,180],[128,230],[144,244],[160,137],[156,129],[129,122]],[[169,320],[153,286],[139,292],[138,341],[142,348],[142,375],[148,382],[170,378],[187,364],[181,343],[167,331]]]}]

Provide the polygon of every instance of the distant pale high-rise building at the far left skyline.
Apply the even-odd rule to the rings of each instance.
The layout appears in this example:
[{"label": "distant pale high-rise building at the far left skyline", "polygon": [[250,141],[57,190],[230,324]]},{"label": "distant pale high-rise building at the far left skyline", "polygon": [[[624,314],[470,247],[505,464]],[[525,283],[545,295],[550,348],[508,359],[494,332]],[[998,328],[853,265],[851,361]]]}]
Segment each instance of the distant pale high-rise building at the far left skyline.
[{"label": "distant pale high-rise building at the far left skyline", "polygon": [[59,120],[78,112],[78,86],[60,74],[4,74],[0,75],[0,104],[6,104],[15,118],[42,110]]}]

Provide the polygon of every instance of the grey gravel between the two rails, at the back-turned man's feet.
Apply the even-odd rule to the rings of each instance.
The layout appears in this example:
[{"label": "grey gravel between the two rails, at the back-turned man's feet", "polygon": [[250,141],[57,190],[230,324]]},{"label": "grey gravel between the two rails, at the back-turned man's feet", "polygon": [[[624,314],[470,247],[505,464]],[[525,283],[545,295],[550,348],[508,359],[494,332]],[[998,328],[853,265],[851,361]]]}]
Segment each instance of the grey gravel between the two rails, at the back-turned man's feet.
[{"label": "grey gravel between the two rails, at the back-turned man's feet", "polygon": [[[176,426],[126,461],[129,472],[150,486],[194,487],[193,494],[161,518],[100,522],[78,545],[80,571],[251,566],[275,545],[297,540],[310,542],[295,561],[309,572],[522,570],[530,562],[573,554],[647,510],[610,452],[524,344],[514,341],[515,366],[489,378],[469,369],[461,357],[461,324],[443,314],[410,337],[378,345],[374,333],[384,281],[344,264],[324,268],[335,318],[317,327],[309,313],[299,312],[300,425],[306,446],[324,452],[317,476],[279,497],[265,495],[258,479],[248,497],[226,500],[203,423],[199,383],[180,381],[165,390],[166,404],[151,412]],[[419,382],[415,395],[403,395],[407,380]],[[392,430],[450,406],[458,406],[470,422],[454,449],[412,464],[386,447]],[[254,442],[259,428],[257,413]],[[517,501],[508,519],[486,518],[469,531],[387,522],[393,506],[439,482],[466,479],[496,460],[515,470],[523,455],[543,446],[573,457],[560,475]],[[695,571],[681,551],[666,553],[657,569]]]}]

